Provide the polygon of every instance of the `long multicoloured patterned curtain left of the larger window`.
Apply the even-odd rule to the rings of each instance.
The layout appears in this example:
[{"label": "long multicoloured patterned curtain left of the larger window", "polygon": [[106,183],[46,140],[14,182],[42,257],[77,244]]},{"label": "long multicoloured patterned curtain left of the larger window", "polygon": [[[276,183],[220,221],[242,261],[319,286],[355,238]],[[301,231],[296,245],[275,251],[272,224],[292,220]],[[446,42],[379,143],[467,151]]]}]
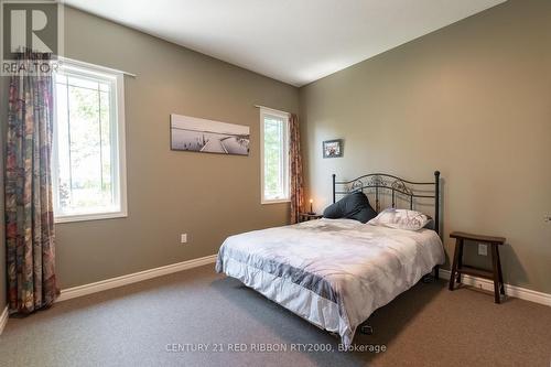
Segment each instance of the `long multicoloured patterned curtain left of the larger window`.
[{"label": "long multicoloured patterned curtain left of the larger window", "polygon": [[[36,53],[20,57],[31,68],[50,60]],[[52,91],[50,75],[11,76],[4,180],[10,313],[50,306],[58,294],[50,168]]]}]

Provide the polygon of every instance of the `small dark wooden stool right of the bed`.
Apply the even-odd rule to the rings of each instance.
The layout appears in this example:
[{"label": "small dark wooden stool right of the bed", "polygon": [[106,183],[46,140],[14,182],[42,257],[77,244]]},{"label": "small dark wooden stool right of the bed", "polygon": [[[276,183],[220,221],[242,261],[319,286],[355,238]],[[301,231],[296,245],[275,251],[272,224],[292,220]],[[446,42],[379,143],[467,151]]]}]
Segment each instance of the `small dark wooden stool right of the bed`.
[{"label": "small dark wooden stool right of the bed", "polygon": [[[450,274],[450,290],[453,291],[455,280],[461,283],[462,274],[469,274],[494,280],[495,302],[500,302],[500,294],[505,295],[504,274],[501,272],[501,261],[499,259],[499,246],[505,244],[503,237],[490,237],[466,234],[463,231],[453,231],[451,238],[455,238],[455,251],[453,253],[452,273]],[[491,249],[491,271],[469,267],[463,263],[463,246],[465,240],[472,244],[486,244]],[[468,242],[467,242],[468,244]]]}]

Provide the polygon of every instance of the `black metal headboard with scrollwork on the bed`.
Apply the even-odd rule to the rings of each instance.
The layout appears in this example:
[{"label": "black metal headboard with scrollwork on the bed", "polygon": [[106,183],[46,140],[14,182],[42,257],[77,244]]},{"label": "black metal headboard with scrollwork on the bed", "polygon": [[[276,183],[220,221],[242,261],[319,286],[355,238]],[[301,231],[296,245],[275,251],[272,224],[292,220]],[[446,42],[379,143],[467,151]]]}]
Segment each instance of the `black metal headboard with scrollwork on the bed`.
[{"label": "black metal headboard with scrollwork on the bed", "polygon": [[[440,234],[440,172],[434,171],[433,182],[412,182],[386,173],[370,173],[350,181],[336,181],[333,174],[333,203],[337,195],[346,195],[356,191],[375,190],[375,209],[380,212],[380,195],[391,195],[391,206],[397,206],[397,198],[406,197],[410,209],[415,198],[434,199],[434,229]],[[403,201],[403,199],[402,199]]]}]

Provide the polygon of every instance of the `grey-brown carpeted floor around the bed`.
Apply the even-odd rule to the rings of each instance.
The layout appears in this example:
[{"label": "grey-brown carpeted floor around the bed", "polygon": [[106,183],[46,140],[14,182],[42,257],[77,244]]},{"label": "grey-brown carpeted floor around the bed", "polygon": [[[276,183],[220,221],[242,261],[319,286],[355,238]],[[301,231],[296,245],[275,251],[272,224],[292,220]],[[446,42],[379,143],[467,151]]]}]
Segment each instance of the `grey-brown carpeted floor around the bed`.
[{"label": "grey-brown carpeted floor around the bed", "polygon": [[[298,352],[338,341],[206,266],[10,319],[0,365],[550,366],[551,307],[493,301],[420,283],[371,316],[375,335],[356,335],[386,352]],[[288,350],[250,350],[262,346]]]}]

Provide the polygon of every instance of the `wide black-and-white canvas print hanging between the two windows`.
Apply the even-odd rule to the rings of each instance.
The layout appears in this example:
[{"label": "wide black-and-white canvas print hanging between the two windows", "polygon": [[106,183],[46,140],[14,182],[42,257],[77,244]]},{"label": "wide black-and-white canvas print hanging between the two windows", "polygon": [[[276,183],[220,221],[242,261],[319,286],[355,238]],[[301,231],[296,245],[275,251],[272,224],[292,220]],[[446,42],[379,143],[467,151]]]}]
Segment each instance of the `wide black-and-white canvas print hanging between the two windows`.
[{"label": "wide black-and-white canvas print hanging between the two windows", "polygon": [[248,126],[171,115],[171,149],[249,155]]}]

